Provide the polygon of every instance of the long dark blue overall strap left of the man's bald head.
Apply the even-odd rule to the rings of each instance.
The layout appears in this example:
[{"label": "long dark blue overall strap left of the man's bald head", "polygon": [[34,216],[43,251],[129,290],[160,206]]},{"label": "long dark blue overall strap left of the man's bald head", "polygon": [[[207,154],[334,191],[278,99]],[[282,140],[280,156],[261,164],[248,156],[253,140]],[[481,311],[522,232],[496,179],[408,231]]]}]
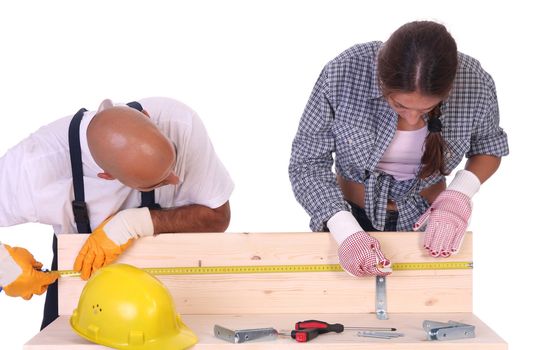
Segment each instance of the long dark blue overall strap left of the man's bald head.
[{"label": "long dark blue overall strap left of the man's bald head", "polygon": [[73,173],[74,201],[72,201],[74,221],[78,233],[91,233],[89,215],[84,194],[84,172],[82,170],[82,151],[80,149],[80,122],[87,109],[81,108],[69,124],[69,153]]}]

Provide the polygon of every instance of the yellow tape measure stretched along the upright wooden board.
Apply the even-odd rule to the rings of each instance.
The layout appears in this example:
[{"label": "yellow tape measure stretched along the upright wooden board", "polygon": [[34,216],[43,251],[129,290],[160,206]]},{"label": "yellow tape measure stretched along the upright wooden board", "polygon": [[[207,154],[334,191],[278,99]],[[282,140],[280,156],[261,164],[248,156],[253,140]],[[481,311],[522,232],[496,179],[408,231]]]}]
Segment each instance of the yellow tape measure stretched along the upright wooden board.
[{"label": "yellow tape measure stretched along the upright wooden board", "polygon": [[[395,271],[403,270],[466,270],[472,269],[469,261],[393,263]],[[288,273],[288,272],[341,272],[339,264],[324,265],[248,265],[248,266],[202,266],[202,267],[147,267],[142,270],[152,275],[221,275],[243,273]],[[62,276],[79,276],[73,270],[57,271]]]}]

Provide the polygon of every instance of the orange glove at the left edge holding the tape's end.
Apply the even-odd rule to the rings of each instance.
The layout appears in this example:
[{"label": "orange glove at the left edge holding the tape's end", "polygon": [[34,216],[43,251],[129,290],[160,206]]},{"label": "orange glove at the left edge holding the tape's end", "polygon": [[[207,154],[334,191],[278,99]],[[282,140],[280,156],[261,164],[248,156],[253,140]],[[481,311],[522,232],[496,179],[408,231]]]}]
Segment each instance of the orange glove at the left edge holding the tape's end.
[{"label": "orange glove at the left edge holding the tape's end", "polygon": [[[4,259],[3,265],[6,266],[2,266],[2,269],[10,272],[20,270],[13,282],[3,286],[7,295],[29,300],[34,294],[43,294],[48,286],[60,277],[57,272],[42,272],[43,264],[36,261],[26,249],[12,248],[8,245],[3,245],[3,247],[9,253],[9,256],[7,256],[7,260]],[[0,247],[0,249],[3,248]]]}]

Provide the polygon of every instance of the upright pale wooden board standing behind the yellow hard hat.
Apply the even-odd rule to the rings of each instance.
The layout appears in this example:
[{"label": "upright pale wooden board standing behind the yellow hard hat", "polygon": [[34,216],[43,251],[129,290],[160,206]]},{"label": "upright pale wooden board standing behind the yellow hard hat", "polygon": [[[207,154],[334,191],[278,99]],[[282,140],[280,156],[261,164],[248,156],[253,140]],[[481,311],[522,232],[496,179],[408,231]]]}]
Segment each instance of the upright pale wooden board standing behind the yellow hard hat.
[{"label": "upright pale wooden board standing behind the yellow hard hat", "polygon": [[[422,234],[374,233],[393,262],[471,261],[471,234],[455,258],[435,259]],[[71,269],[84,235],[59,237],[60,269]],[[139,240],[119,259],[138,267],[335,264],[328,233],[174,234]],[[370,313],[374,278],[344,272],[159,276],[183,314]],[[472,271],[395,271],[387,279],[388,312],[470,312]],[[60,314],[76,307],[84,282],[60,281]]]}]

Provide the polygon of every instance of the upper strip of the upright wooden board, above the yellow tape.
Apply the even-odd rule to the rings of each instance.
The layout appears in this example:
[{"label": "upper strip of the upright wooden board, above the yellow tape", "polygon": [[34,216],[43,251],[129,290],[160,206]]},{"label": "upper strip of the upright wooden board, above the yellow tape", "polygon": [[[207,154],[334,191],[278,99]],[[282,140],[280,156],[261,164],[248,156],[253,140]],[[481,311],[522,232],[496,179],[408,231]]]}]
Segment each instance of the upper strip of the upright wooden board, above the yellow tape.
[{"label": "upper strip of the upright wooden board, above the yellow tape", "polygon": [[[449,259],[428,256],[419,232],[373,232],[382,251],[393,262],[472,260],[472,234],[467,233],[460,253]],[[59,235],[59,268],[72,264],[87,235]],[[120,261],[140,267],[336,264],[337,244],[326,232],[296,233],[182,233],[145,237],[123,254]]]}]

